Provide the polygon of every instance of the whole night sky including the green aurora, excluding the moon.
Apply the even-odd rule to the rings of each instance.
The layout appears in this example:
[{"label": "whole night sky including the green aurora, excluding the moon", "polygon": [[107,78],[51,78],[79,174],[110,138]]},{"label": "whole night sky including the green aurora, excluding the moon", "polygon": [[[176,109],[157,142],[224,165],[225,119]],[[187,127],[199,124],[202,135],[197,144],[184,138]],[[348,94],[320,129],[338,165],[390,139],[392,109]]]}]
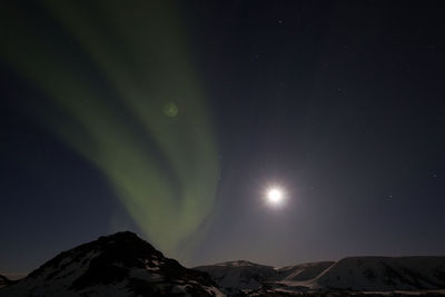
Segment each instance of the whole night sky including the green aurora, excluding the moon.
[{"label": "whole night sky including the green aurora, excluding the moon", "polygon": [[445,254],[441,1],[88,2],[0,3],[0,273]]}]

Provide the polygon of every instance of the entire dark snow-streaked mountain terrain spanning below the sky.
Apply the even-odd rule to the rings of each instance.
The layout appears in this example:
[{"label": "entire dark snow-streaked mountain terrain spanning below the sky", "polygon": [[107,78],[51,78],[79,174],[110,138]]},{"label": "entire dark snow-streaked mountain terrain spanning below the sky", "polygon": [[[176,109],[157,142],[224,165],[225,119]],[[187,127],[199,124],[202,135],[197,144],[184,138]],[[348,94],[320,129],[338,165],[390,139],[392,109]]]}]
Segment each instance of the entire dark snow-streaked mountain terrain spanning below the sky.
[{"label": "entire dark snow-streaked mountain terrain spanning below the sky", "polygon": [[0,296],[439,296],[445,257],[350,257],[274,268],[228,261],[189,269],[126,231],[63,251]]}]

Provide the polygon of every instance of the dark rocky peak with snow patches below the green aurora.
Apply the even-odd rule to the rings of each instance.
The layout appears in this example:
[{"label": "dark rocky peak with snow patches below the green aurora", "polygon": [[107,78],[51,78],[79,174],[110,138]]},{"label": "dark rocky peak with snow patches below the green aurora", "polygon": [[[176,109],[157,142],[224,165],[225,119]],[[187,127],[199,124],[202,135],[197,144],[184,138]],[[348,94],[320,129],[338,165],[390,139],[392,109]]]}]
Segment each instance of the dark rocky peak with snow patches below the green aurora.
[{"label": "dark rocky peak with snow patches below the green aurora", "polygon": [[126,231],[63,251],[0,296],[222,296],[210,277]]}]

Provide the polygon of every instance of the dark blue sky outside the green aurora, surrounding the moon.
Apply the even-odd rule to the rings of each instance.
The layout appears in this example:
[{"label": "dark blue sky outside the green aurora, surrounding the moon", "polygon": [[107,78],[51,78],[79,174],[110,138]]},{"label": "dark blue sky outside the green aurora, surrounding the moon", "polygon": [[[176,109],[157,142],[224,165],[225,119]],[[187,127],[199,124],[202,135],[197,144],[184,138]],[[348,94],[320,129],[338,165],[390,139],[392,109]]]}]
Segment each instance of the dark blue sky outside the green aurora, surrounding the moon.
[{"label": "dark blue sky outside the green aurora, surrounding the moon", "polygon": [[[28,39],[32,27],[67,71],[76,63],[72,71],[88,73],[98,93],[118,97],[97,57],[46,4],[14,2],[0,10],[21,16],[21,29],[1,21],[0,38]],[[187,43],[205,93],[220,174],[198,244],[191,256],[178,257],[188,266],[235,259],[280,266],[354,255],[444,255],[439,3],[174,2],[184,32],[178,40]],[[100,13],[86,7],[90,16]],[[171,17],[157,18],[148,29],[162,38]],[[102,31],[112,31],[98,20]],[[100,235],[142,228],[100,166],[37,119],[57,113],[63,122],[42,82],[17,67],[22,62],[34,73],[34,63],[20,57],[38,59],[40,48],[20,51],[33,53],[0,55],[0,273],[27,273]],[[161,68],[154,62],[151,73]],[[188,110],[179,107],[178,115]],[[117,120],[132,125],[128,115]],[[286,191],[280,208],[264,204],[269,185]]]}]

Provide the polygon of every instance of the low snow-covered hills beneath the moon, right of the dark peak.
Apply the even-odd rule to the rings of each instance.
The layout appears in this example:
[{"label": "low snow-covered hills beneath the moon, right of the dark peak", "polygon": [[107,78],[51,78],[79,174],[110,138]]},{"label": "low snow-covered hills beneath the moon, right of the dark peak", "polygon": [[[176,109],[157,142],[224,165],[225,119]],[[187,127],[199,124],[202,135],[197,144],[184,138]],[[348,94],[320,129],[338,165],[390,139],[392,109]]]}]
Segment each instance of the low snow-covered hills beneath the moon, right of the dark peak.
[{"label": "low snow-covered hills beneath the moon, right of the dark peak", "polygon": [[208,273],[228,295],[445,295],[445,257],[350,257],[283,268],[235,261],[195,269]]}]

